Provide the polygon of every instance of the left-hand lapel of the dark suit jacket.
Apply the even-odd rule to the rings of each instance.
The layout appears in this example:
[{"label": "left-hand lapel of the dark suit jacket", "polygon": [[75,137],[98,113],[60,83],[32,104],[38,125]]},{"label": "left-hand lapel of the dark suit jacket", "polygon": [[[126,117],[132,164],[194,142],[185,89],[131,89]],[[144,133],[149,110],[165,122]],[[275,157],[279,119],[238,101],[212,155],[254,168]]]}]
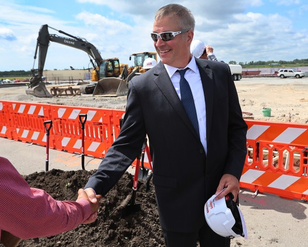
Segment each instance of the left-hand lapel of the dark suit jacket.
[{"label": "left-hand lapel of the dark suit jacket", "polygon": [[165,69],[162,62],[159,62],[157,66],[155,66],[154,75],[157,77],[154,79],[154,82],[156,83],[157,87],[161,91],[161,93],[165,96],[167,101],[170,103],[170,105],[173,107],[174,111],[177,112],[179,117],[184,121],[184,123],[187,125],[187,127],[190,129],[190,131],[198,138],[199,136],[196,134],[196,130],[194,129],[192,123],[190,122],[190,119],[182,105],[182,102],[180,98],[178,97],[174,86],[170,80],[170,77],[167,73],[167,70]]}]

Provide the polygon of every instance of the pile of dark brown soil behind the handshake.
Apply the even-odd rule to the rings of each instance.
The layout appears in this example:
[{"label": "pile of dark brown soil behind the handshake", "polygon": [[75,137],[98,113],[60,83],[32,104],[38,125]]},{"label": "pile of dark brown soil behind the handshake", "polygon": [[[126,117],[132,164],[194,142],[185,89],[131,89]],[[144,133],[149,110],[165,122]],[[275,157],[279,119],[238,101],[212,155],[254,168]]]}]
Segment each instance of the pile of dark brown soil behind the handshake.
[{"label": "pile of dark brown soil behind the handshake", "polygon": [[[31,187],[41,188],[57,200],[77,199],[82,188],[94,171],[68,171],[53,169],[33,173],[25,177]],[[88,225],[47,238],[24,240],[19,247],[162,247],[163,235],[158,221],[154,186],[146,192],[145,180],[139,180],[136,202],[141,211],[121,217],[117,207],[132,194],[133,175],[125,173],[118,183],[101,199],[98,218]],[[116,209],[116,210],[115,210]],[[110,216],[113,212],[114,214]]]}]

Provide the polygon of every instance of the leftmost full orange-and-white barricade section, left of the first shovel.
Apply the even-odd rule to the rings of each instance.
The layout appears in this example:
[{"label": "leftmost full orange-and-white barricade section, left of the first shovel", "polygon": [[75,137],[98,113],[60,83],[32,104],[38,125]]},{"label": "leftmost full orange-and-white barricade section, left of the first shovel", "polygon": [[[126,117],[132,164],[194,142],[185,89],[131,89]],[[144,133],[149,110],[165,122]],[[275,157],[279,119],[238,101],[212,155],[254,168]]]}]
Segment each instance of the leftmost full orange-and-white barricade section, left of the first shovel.
[{"label": "leftmost full orange-and-white barricade section, left of the first shovel", "polygon": [[[14,140],[46,146],[44,121],[51,119],[50,105],[7,101],[7,110]],[[52,133],[51,130],[49,145],[54,148]]]}]

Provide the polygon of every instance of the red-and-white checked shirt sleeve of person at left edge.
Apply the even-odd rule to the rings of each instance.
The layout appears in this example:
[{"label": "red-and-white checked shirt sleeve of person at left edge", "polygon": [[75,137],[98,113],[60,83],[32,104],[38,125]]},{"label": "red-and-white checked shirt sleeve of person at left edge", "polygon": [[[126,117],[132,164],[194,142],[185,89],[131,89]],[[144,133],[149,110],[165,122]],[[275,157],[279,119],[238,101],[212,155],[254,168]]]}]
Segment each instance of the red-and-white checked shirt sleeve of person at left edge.
[{"label": "red-and-white checked shirt sleeve of person at left edge", "polygon": [[31,188],[13,165],[0,157],[0,231],[21,239],[52,236],[76,228],[90,214],[87,200],[55,200],[44,190]]}]

